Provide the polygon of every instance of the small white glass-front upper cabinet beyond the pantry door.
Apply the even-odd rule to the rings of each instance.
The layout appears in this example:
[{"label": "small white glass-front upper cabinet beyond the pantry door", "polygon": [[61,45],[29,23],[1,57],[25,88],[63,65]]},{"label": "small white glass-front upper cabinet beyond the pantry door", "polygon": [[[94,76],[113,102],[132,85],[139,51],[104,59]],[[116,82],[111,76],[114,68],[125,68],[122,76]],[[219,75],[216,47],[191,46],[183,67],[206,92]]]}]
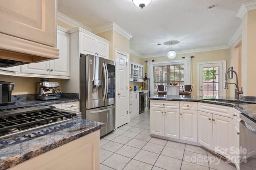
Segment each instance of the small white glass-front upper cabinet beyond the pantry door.
[{"label": "small white glass-front upper cabinet beyond the pantry door", "polygon": [[144,66],[130,62],[130,81],[143,82]]}]

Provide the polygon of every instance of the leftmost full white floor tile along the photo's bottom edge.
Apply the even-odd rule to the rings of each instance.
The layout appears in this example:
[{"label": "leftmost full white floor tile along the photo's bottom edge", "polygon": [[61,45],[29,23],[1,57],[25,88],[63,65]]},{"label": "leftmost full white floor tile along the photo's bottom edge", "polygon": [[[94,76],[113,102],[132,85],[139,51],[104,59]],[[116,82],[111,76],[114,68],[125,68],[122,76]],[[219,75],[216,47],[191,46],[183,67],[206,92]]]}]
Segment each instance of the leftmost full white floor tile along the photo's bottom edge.
[{"label": "leftmost full white floor tile along the photo's bottom edge", "polygon": [[122,170],[126,164],[131,160],[131,158],[127,158],[125,156],[119,154],[112,154],[109,158],[107,158],[102,164],[114,168],[116,170]]}]

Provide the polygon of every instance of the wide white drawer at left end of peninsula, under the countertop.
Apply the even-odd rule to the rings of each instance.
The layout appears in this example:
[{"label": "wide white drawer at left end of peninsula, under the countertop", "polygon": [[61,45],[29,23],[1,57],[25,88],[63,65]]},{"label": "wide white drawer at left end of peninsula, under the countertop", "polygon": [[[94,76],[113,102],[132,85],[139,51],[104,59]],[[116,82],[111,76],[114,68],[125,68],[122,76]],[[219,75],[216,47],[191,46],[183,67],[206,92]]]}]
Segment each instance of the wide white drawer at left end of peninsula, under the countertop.
[{"label": "wide white drawer at left end of peninsula, under the countertop", "polygon": [[150,100],[150,107],[179,109],[180,101]]}]

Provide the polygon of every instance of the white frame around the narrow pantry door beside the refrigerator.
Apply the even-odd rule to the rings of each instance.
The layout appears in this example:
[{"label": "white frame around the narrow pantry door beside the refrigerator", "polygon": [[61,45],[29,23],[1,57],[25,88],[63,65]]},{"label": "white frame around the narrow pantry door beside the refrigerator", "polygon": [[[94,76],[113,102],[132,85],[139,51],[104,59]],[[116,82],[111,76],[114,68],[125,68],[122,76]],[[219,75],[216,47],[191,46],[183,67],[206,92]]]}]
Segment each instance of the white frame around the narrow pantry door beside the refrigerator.
[{"label": "white frame around the narrow pantry door beside the refrigerator", "polygon": [[[127,61],[126,61],[127,62],[126,63],[126,77],[128,77],[128,78],[125,81],[126,87],[127,87],[125,96],[126,96],[127,102],[124,103],[124,107],[123,108],[127,111],[127,113],[129,113],[129,91],[128,91],[128,86],[130,86],[129,85],[130,81],[129,81],[129,65],[128,65],[128,63],[130,61],[130,55],[129,55],[129,53],[126,53],[126,52],[116,48],[115,49],[115,61],[117,61],[117,54],[118,53],[120,53],[121,55],[125,55],[127,57]],[[117,73],[117,67],[115,68],[115,71]],[[116,86],[116,92],[117,92],[117,86]],[[116,100],[118,99],[117,93],[116,93],[116,97],[115,98],[116,98]],[[116,105],[117,104],[118,103],[116,103]],[[118,113],[120,113],[120,111],[118,111],[118,107],[116,106],[116,128],[118,128]],[[126,123],[129,123],[130,120],[131,120],[131,118],[130,118],[130,115],[128,114]]]}]

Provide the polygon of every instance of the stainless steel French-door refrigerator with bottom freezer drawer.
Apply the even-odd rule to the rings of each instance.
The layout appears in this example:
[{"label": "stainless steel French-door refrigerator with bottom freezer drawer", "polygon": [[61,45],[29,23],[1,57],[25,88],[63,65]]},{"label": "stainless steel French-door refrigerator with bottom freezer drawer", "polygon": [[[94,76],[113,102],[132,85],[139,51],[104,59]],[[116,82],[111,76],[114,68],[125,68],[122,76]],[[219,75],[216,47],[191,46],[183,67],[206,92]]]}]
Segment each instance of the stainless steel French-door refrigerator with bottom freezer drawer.
[{"label": "stainless steel French-door refrigerator with bottom freezer drawer", "polygon": [[100,136],[115,128],[115,62],[80,55],[80,111],[82,118],[105,123]]}]

